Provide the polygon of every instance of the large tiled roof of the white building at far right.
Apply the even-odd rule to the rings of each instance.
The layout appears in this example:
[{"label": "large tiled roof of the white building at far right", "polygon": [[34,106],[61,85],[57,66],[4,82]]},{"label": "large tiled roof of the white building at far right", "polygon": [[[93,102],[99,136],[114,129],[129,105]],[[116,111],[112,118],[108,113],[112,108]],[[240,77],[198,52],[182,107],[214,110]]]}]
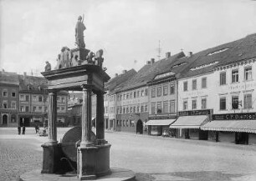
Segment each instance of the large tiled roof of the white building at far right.
[{"label": "large tiled roof of the white building at far right", "polygon": [[208,73],[214,68],[251,58],[256,58],[256,33],[193,54],[187,59],[192,63],[182,71],[181,78]]}]

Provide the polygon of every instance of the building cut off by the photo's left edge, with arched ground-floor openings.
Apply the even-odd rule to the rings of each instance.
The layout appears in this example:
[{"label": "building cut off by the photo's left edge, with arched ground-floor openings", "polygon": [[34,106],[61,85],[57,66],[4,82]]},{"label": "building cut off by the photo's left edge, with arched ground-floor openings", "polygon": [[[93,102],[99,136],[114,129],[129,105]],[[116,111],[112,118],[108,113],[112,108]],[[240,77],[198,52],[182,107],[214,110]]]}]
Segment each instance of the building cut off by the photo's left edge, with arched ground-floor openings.
[{"label": "building cut off by the photo's left edge, with arched ground-floor openings", "polygon": [[17,126],[18,75],[0,72],[0,126]]}]

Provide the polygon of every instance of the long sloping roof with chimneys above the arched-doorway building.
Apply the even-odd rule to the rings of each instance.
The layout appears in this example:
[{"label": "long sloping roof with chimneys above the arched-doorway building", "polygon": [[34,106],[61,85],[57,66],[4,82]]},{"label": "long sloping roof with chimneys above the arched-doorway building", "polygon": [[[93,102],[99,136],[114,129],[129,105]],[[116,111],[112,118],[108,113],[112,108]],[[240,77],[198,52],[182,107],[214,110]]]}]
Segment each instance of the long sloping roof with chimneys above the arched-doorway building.
[{"label": "long sloping roof with chimneys above the arched-doorway building", "polygon": [[146,86],[146,83],[155,78],[156,74],[165,72],[170,68],[172,63],[175,63],[179,58],[182,58],[183,56],[185,55],[183,52],[181,52],[173,55],[170,58],[163,58],[156,63],[146,64],[138,71],[138,73],[136,73],[133,78],[125,82],[125,84],[122,85],[122,88],[119,88],[118,91],[125,91]]}]

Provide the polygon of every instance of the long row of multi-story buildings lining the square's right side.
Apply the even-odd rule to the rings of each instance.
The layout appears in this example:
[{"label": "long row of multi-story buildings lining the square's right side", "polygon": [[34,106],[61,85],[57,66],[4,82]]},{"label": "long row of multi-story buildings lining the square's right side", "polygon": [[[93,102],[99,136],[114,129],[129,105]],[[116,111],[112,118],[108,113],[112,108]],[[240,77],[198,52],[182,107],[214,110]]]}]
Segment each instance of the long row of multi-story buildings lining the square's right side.
[{"label": "long row of multi-story buildings lining the square's right side", "polygon": [[256,143],[256,34],[131,69],[105,84],[105,128]]}]

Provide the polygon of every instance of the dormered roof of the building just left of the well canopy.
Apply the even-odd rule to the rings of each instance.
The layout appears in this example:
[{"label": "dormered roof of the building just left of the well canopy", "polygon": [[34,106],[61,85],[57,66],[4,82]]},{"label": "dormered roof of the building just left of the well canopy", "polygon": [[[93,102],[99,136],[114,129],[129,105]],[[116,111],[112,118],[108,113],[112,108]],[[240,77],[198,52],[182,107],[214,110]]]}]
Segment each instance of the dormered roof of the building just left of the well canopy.
[{"label": "dormered roof of the building just left of the well canopy", "polygon": [[[20,91],[42,92],[39,88],[48,88],[47,80],[43,77],[26,75],[24,79],[24,75],[18,75],[18,81]],[[32,90],[28,90],[28,86],[30,86]]]}]

